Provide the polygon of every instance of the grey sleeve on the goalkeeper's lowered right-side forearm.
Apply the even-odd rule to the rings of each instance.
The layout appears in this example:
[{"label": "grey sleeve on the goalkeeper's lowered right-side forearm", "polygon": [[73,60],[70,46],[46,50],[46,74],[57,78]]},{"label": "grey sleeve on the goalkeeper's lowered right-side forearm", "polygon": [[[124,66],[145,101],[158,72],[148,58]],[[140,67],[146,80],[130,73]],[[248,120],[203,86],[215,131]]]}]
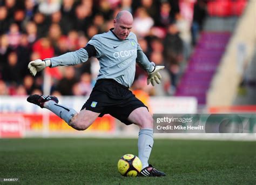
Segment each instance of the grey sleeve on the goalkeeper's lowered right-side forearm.
[{"label": "grey sleeve on the goalkeeper's lowered right-side forearm", "polygon": [[148,73],[154,70],[154,63],[151,63],[149,59],[147,59],[146,54],[143,53],[142,50],[137,50],[136,62]]}]

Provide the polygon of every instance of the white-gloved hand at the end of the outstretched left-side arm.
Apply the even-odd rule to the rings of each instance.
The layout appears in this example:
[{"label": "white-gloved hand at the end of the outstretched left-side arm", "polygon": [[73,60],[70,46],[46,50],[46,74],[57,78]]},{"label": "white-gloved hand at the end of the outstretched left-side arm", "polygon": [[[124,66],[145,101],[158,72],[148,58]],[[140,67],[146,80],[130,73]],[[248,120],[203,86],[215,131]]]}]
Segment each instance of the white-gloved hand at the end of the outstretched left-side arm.
[{"label": "white-gloved hand at the end of the outstretched left-side arm", "polygon": [[37,60],[30,61],[28,65],[28,69],[32,74],[32,76],[35,77],[37,72],[42,71],[45,67],[49,67],[50,65],[51,65],[50,59],[44,59],[44,60],[37,59]]}]

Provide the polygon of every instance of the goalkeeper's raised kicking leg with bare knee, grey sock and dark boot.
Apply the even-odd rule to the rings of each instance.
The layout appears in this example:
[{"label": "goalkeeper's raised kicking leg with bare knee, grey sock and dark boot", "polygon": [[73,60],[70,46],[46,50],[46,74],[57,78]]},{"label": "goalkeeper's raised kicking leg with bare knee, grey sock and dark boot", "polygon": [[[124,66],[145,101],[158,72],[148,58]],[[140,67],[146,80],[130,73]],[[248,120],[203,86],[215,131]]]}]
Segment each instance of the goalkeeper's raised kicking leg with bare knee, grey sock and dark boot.
[{"label": "goalkeeper's raised kicking leg with bare knee, grey sock and dark boot", "polygon": [[58,99],[53,96],[34,94],[30,95],[27,100],[32,104],[40,106],[41,108],[49,109],[78,131],[84,131],[87,129],[100,114],[85,109],[80,111],[80,113],[77,113],[73,108],[59,105]]}]

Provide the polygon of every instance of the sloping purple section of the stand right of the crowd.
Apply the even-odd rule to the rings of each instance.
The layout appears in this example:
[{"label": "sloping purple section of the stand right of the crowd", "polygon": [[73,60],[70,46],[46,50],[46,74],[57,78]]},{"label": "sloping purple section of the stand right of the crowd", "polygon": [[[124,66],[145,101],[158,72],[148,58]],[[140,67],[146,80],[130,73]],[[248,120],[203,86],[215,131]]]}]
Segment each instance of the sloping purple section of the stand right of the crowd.
[{"label": "sloping purple section of the stand right of the crowd", "polygon": [[206,93],[230,38],[228,32],[204,32],[194,49],[186,72],[177,87],[177,96],[193,96],[206,104]]}]

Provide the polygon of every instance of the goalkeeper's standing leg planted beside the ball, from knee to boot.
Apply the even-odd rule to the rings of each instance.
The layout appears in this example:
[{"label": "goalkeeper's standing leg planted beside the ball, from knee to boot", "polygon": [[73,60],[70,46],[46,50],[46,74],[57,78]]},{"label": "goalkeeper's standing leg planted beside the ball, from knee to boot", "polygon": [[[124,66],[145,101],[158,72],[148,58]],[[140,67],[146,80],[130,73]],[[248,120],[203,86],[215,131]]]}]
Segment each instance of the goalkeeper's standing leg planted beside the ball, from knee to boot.
[{"label": "goalkeeper's standing leg planted beside the ball, from knee to boot", "polygon": [[165,176],[165,173],[158,171],[149,165],[148,160],[153,147],[153,118],[146,107],[134,109],[128,117],[128,120],[138,125],[139,138],[138,150],[139,159],[142,161],[144,176]]}]

